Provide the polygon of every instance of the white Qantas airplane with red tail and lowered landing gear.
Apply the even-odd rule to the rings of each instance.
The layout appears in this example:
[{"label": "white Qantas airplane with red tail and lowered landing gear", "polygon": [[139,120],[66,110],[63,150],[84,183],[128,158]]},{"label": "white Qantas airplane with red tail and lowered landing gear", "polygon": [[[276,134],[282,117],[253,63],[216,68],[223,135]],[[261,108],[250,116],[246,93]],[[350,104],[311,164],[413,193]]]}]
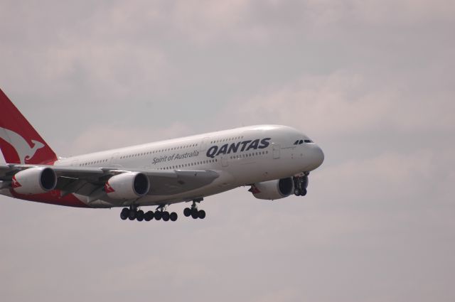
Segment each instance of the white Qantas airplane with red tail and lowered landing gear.
[{"label": "white Qantas airplane with red tail and lowered landing gear", "polygon": [[[100,138],[102,139],[102,138]],[[0,194],[70,207],[123,207],[122,220],[203,219],[198,204],[210,195],[249,186],[255,198],[307,193],[308,176],[324,154],[289,126],[255,125],[57,157],[0,90]],[[1,156],[0,156],[1,158]],[[155,206],[144,212],[141,207]]]}]

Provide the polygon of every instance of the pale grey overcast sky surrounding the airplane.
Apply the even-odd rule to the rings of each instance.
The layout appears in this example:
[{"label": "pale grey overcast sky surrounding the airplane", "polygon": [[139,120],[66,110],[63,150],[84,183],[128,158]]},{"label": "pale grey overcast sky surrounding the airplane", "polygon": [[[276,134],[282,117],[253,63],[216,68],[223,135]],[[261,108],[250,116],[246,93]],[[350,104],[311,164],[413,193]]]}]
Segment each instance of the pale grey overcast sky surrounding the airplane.
[{"label": "pale grey overcast sky surrounding the airplane", "polygon": [[119,220],[0,197],[2,301],[455,299],[455,4],[0,0],[0,87],[60,156],[286,124],[305,198]]}]

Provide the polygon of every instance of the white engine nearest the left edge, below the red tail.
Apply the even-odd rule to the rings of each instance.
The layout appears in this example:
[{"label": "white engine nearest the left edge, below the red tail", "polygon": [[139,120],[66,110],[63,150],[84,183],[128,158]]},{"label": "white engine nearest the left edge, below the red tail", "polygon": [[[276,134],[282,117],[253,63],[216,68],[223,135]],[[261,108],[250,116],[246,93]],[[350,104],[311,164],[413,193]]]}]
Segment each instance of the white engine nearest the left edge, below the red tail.
[{"label": "white engine nearest the left edge, below the red tail", "polygon": [[11,187],[23,195],[41,194],[55,189],[57,176],[52,168],[36,167],[20,171],[13,176]]}]

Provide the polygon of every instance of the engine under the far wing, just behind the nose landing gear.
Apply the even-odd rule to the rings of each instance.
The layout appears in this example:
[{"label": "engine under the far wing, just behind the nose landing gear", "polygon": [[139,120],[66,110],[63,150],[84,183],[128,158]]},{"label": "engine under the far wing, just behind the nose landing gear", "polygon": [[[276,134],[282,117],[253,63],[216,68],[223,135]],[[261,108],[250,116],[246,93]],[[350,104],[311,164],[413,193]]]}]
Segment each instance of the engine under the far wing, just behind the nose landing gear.
[{"label": "engine under the far wing, just behind the nose landing gear", "polygon": [[250,192],[259,199],[285,198],[294,193],[294,180],[289,177],[255,183],[251,186]]}]

